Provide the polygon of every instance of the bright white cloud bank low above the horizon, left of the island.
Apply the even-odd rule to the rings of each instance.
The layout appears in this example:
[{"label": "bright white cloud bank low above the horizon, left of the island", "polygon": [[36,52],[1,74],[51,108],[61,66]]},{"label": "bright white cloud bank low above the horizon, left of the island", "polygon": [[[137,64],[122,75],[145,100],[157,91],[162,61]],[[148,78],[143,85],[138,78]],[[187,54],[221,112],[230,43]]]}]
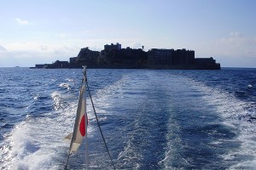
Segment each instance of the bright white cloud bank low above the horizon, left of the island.
[{"label": "bright white cloud bank low above the horizon, left of the island", "polygon": [[35,64],[52,63],[55,60],[66,60],[79,54],[77,44],[66,45],[55,42],[9,42],[0,46],[0,67],[34,66]]}]

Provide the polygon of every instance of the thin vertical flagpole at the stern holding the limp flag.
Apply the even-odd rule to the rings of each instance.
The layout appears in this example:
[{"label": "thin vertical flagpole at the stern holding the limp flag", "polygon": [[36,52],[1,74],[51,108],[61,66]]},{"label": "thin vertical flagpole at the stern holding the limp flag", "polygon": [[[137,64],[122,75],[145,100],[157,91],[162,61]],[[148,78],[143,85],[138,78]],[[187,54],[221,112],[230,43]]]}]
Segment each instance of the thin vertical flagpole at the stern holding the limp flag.
[{"label": "thin vertical flagpole at the stern holding the limp flag", "polygon": [[84,127],[85,127],[85,163],[86,163],[86,169],[89,170],[89,151],[88,151],[88,138],[87,138],[87,124],[88,124],[88,117],[87,117],[87,111],[86,111],[86,88],[85,88],[85,82],[87,81],[86,77],[86,65],[83,65],[84,67]]}]

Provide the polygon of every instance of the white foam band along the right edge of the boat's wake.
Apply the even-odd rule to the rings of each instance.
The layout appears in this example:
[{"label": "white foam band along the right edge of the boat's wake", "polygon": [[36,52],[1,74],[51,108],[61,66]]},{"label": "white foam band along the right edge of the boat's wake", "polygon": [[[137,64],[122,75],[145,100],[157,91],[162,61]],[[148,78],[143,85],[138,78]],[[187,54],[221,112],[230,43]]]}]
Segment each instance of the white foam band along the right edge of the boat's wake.
[{"label": "white foam band along the right edge of the boat's wake", "polygon": [[[248,103],[236,99],[233,94],[225,93],[218,88],[210,88],[202,82],[193,82],[194,87],[201,90],[204,94],[203,99],[207,101],[208,105],[212,105],[217,109],[218,115],[223,117],[224,123],[227,126],[236,129],[237,138],[232,139],[241,143],[236,150],[230,150],[224,155],[224,160],[236,160],[236,157],[241,157],[243,160],[234,164],[230,169],[250,169],[256,167],[256,127],[255,122],[249,122],[248,116],[255,114],[255,108],[248,110],[250,105]],[[208,94],[208,95],[207,95]],[[221,139],[216,142],[221,142]]]}]

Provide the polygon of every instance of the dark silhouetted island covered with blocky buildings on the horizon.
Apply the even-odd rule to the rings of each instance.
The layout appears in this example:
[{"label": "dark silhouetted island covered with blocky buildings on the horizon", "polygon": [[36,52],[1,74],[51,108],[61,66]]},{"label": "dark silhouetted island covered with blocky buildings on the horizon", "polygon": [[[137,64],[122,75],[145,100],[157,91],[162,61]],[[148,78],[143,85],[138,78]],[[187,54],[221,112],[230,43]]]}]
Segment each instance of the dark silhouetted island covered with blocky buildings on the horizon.
[{"label": "dark silhouetted island covered with blocky buildings on the horizon", "polygon": [[101,52],[81,48],[77,57],[68,61],[56,60],[52,64],[35,65],[37,69],[59,68],[105,68],[105,69],[178,69],[220,70],[220,64],[210,58],[195,58],[195,51],[183,49],[121,48],[121,44],[106,44]]}]

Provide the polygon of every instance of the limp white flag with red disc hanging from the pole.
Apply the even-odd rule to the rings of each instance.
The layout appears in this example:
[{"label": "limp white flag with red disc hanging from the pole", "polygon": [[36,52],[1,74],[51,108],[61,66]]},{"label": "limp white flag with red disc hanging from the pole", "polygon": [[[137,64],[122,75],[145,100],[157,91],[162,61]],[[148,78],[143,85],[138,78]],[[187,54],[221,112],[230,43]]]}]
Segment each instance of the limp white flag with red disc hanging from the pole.
[{"label": "limp white flag with red disc hanging from the pole", "polygon": [[68,134],[67,137],[65,138],[65,139],[71,139],[70,147],[68,150],[70,154],[73,152],[76,152],[79,148],[79,145],[83,141],[83,137],[85,135],[84,116],[86,117],[86,120],[87,120],[87,114],[85,111],[84,86],[82,86],[79,94],[79,104],[78,104],[75,124],[73,127],[73,133]]}]

